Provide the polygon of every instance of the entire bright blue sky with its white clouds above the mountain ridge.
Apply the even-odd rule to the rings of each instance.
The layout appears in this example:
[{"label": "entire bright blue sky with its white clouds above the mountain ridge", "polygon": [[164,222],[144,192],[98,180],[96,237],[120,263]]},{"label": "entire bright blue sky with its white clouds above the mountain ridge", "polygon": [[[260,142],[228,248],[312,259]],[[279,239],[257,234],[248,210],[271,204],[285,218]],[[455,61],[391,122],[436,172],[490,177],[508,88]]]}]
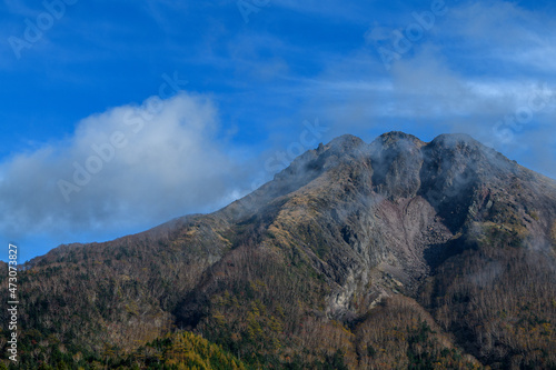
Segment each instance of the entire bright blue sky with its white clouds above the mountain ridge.
[{"label": "entire bright blue sky with its white clouds above the mountain ridge", "polygon": [[0,242],[21,262],[214,211],[342,133],[466,132],[556,178],[552,1],[4,0],[0,12]]}]

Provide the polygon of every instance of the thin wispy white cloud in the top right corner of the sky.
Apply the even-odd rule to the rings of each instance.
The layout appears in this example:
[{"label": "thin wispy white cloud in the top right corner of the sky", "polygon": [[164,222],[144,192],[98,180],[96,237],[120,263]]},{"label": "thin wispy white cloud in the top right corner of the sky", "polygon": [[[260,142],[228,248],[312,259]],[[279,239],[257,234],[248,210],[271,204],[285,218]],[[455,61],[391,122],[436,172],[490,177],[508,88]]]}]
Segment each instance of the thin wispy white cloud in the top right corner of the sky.
[{"label": "thin wispy white cloud in the top right corner of the sky", "polygon": [[504,71],[556,71],[556,22],[548,13],[500,0],[469,2],[448,12],[440,32],[466,57],[496,60]]}]

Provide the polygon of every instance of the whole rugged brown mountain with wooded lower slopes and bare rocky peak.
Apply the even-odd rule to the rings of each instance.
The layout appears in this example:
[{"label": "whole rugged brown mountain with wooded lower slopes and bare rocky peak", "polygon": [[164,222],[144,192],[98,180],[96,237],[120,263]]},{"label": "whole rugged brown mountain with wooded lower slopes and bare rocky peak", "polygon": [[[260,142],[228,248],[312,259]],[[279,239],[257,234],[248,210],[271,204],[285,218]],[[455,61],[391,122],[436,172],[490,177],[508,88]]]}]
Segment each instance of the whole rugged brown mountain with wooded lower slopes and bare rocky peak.
[{"label": "whole rugged brown mountain with wooded lower slopes and bare rocky peak", "polygon": [[342,136],[215,213],[32,260],[21,362],[171,369],[190,331],[254,369],[556,369],[555,262],[556,181],[465,134]]}]

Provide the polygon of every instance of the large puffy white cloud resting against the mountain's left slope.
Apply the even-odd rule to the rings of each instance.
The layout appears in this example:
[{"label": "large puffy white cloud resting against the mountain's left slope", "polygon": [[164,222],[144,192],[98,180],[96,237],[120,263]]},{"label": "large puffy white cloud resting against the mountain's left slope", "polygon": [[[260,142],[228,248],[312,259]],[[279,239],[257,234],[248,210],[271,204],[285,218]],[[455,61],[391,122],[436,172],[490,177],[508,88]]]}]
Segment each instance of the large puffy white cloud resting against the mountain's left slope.
[{"label": "large puffy white cloud resting against the mountain's left slope", "polygon": [[103,236],[215,210],[242,181],[219,129],[210,99],[186,93],[83,119],[67,141],[0,166],[0,234]]}]

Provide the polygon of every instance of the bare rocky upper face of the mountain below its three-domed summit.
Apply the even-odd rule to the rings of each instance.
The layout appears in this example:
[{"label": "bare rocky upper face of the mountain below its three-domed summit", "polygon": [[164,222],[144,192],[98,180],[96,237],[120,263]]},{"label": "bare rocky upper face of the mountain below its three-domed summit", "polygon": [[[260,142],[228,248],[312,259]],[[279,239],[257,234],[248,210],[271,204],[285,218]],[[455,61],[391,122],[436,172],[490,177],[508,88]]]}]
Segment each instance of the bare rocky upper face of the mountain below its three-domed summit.
[{"label": "bare rocky upper face of the mountain below its three-domed summit", "polygon": [[415,293],[431,269],[461,251],[453,241],[477,223],[509,223],[526,242],[546,243],[549,224],[527,209],[553,220],[555,189],[468,136],[424,143],[390,132],[370,144],[344,136],[309,151],[230,208],[256,213],[258,199],[279,203],[270,227],[311,250],[314,267],[336,287],[328,312],[353,317],[355,294],[370,307],[393,290]]}]

